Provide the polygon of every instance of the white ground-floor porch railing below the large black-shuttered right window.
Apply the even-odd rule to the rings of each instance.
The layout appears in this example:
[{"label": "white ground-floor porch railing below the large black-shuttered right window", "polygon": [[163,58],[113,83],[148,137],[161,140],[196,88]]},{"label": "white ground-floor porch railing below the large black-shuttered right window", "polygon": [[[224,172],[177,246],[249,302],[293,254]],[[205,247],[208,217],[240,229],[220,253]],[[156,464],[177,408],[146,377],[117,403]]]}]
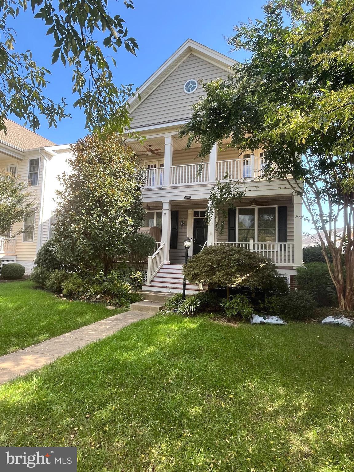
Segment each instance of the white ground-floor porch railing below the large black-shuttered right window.
[{"label": "white ground-floor porch railing below the large black-shuttered right window", "polygon": [[215,243],[232,244],[243,247],[254,253],[259,253],[263,257],[270,259],[274,264],[292,265],[295,263],[295,243],[254,243],[250,239],[249,243]]}]

